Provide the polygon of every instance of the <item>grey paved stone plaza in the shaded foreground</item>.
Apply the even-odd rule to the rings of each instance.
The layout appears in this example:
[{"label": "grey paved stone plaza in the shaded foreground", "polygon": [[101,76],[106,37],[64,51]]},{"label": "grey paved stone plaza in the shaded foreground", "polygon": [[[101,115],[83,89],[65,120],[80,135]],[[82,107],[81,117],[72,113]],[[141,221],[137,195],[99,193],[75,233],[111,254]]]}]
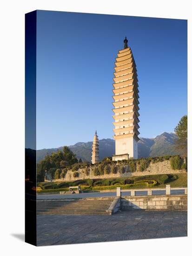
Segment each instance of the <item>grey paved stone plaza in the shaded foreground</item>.
[{"label": "grey paved stone plaza in the shaded foreground", "polygon": [[187,212],[143,211],[100,215],[37,215],[37,245],[187,236]]}]

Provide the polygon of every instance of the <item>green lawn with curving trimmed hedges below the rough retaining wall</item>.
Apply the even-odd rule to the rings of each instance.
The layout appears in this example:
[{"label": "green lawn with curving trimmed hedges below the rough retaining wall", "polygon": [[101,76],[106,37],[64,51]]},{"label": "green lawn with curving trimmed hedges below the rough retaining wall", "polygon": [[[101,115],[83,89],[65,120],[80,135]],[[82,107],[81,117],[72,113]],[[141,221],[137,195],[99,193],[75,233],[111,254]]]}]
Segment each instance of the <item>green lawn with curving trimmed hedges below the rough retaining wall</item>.
[{"label": "green lawn with curving trimmed hedges below the rough retaining wall", "polygon": [[128,176],[110,179],[85,179],[73,182],[44,182],[38,183],[41,188],[38,193],[68,191],[69,186],[81,186],[82,190],[114,190],[116,187],[122,189],[141,188],[164,188],[166,184],[171,187],[187,187],[187,174],[175,175],[145,175]]}]

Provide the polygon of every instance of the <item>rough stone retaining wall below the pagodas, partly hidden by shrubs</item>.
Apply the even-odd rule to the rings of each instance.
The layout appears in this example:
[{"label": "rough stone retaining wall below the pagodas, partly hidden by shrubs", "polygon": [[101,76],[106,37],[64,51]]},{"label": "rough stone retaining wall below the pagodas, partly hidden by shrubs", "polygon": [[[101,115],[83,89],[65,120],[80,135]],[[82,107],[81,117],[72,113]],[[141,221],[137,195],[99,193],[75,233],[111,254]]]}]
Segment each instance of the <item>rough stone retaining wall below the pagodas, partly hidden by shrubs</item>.
[{"label": "rough stone retaining wall below the pagodas, partly hidden by shrubs", "polygon": [[[178,173],[186,173],[186,170],[173,170],[170,164],[170,160],[164,160],[162,162],[152,163],[150,162],[149,166],[146,168],[145,171],[140,172],[137,168],[135,172],[131,172],[129,169],[128,164],[121,164],[124,166],[126,172],[124,174],[120,174],[119,172],[116,174],[104,174],[104,175],[97,175],[95,176],[93,173],[93,168],[90,167],[89,175],[86,175],[86,169],[81,168],[78,170],[79,177],[73,177],[73,171],[69,170],[66,173],[65,178],[61,179],[54,179],[54,182],[61,182],[61,181],[75,181],[80,179],[104,179],[104,178],[117,178],[117,177],[128,177],[128,176],[142,176],[142,175],[155,175],[155,174],[178,174]],[[118,166],[118,164],[117,164]]]}]

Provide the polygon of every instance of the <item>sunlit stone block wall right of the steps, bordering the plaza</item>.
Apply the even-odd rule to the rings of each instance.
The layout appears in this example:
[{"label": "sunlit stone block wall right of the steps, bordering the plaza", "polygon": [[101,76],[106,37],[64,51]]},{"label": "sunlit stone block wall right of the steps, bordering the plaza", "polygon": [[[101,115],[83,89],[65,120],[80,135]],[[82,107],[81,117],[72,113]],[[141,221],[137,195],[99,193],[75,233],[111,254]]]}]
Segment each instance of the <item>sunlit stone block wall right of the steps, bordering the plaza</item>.
[{"label": "sunlit stone block wall right of the steps, bordering the plaza", "polygon": [[122,196],[121,209],[187,210],[187,195]]}]

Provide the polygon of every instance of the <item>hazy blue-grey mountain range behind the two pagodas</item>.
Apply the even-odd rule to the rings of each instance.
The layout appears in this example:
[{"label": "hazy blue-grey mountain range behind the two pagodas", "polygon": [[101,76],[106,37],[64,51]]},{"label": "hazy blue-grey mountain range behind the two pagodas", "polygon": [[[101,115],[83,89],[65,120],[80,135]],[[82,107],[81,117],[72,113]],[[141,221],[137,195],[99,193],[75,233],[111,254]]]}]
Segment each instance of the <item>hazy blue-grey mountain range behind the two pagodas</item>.
[{"label": "hazy blue-grey mountain range behind the two pagodas", "polygon": [[[140,138],[138,141],[138,158],[149,157],[149,156],[162,156],[162,155],[177,155],[174,144],[177,139],[177,135],[174,133],[164,132],[155,138]],[[91,162],[92,154],[92,141],[78,142],[69,148],[82,161]],[[59,148],[44,148],[37,150],[37,162],[44,159],[45,155],[51,154],[58,149],[62,150],[63,147]],[[112,156],[115,154],[115,141],[112,139],[99,140],[99,159],[102,160],[106,156]]]}]

